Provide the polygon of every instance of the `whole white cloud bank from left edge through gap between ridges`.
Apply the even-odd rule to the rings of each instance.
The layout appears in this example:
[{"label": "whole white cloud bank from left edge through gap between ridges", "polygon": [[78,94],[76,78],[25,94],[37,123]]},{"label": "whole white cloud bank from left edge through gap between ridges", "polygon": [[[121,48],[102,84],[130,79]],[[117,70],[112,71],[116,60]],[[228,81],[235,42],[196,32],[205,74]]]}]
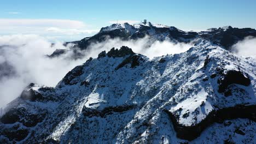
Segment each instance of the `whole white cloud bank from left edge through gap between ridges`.
[{"label": "whole white cloud bank from left edge through gap between ridges", "polygon": [[[0,37],[0,70],[8,68],[14,73],[5,73],[0,76],[0,107],[5,106],[11,100],[20,95],[22,90],[31,82],[56,86],[69,70],[82,64],[89,57],[96,58],[103,50],[109,51],[112,47],[120,48],[129,46],[136,53],[141,53],[149,58],[187,51],[192,44],[171,43],[170,41],[152,42],[149,38],[123,41],[120,39],[108,39],[102,43],[91,44],[83,51],[83,59],[74,60],[70,57],[72,52],[56,58],[48,58],[46,55],[53,53],[55,49],[69,49],[61,43],[51,43],[38,35],[6,35]],[[1,73],[0,73],[1,74]]]}]

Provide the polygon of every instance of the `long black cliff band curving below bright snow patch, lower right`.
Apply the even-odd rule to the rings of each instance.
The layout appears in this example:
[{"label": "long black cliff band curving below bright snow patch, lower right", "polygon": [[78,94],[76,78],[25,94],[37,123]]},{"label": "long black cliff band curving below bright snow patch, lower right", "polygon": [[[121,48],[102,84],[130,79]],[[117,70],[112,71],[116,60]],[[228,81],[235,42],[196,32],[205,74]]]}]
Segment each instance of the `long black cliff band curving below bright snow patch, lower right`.
[{"label": "long black cliff band curving below bright snow patch, lower right", "polygon": [[196,139],[196,137],[200,136],[202,131],[210,126],[212,123],[222,123],[225,119],[249,118],[255,122],[255,110],[256,105],[237,105],[234,107],[226,107],[210,112],[209,115],[205,119],[203,119],[203,121],[191,126],[179,124],[176,116],[172,112],[167,110],[165,110],[165,112],[167,112],[170,116],[174,129],[177,132],[177,137],[179,137],[180,139],[191,141]]}]

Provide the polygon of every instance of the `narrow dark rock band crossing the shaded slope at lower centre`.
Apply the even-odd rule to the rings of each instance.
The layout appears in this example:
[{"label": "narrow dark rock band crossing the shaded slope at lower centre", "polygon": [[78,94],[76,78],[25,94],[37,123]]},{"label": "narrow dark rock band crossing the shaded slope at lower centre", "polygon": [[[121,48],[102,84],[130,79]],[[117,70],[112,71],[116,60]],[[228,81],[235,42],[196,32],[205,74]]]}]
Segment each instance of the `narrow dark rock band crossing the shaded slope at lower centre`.
[{"label": "narrow dark rock band crossing the shaded slope at lower centre", "polygon": [[119,106],[109,106],[104,108],[102,111],[98,111],[96,109],[91,109],[89,107],[83,107],[83,115],[86,117],[105,117],[106,115],[111,115],[114,112],[124,112],[131,110],[135,107],[135,105],[119,105]]}]

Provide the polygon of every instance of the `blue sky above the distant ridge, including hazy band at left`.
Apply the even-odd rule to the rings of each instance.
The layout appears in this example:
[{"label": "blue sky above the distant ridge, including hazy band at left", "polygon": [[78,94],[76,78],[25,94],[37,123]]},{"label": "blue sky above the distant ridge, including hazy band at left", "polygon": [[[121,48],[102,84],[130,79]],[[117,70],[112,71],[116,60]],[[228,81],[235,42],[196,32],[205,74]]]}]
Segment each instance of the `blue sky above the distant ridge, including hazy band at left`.
[{"label": "blue sky above the distant ridge, including hazy band at left", "polygon": [[[111,21],[153,23],[184,30],[211,27],[256,28],[256,1],[2,1],[0,34],[39,34],[63,40],[75,40],[110,25]],[[1,25],[1,20],[4,21]],[[10,21],[9,20],[13,20]],[[30,21],[26,21],[30,20]],[[33,20],[37,20],[34,22]],[[44,20],[47,20],[46,26]],[[51,22],[54,21],[53,26]],[[59,23],[66,22],[59,27]],[[67,20],[67,21],[63,21]],[[25,22],[24,22],[25,21]],[[15,23],[16,22],[16,23]],[[71,22],[71,23],[69,23]],[[20,23],[20,25],[19,25]],[[32,23],[32,24],[30,24]],[[8,25],[10,24],[10,25]],[[28,26],[26,26],[28,25]],[[69,26],[71,25],[71,26]],[[76,26],[78,25],[78,26]],[[5,28],[6,27],[6,28]],[[23,32],[22,31],[26,32]],[[45,31],[47,29],[47,31]],[[65,30],[66,29],[66,30]],[[49,31],[48,31],[49,30]],[[83,33],[79,33],[81,30]],[[42,32],[41,32],[42,31]],[[75,33],[73,33],[73,31]],[[53,34],[53,32],[55,32]],[[60,33],[61,32],[61,33]],[[61,38],[60,35],[69,35]],[[56,36],[56,39],[58,37]]]}]

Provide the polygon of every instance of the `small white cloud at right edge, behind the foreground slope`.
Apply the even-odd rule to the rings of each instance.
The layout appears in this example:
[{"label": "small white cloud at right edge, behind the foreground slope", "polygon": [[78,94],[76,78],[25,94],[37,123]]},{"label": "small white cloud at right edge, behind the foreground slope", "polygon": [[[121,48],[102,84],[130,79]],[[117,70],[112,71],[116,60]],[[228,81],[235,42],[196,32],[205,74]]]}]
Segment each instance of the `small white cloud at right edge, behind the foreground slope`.
[{"label": "small white cloud at right edge, behind the foreground slope", "polygon": [[232,46],[232,51],[241,56],[256,56],[256,38],[246,37]]}]

